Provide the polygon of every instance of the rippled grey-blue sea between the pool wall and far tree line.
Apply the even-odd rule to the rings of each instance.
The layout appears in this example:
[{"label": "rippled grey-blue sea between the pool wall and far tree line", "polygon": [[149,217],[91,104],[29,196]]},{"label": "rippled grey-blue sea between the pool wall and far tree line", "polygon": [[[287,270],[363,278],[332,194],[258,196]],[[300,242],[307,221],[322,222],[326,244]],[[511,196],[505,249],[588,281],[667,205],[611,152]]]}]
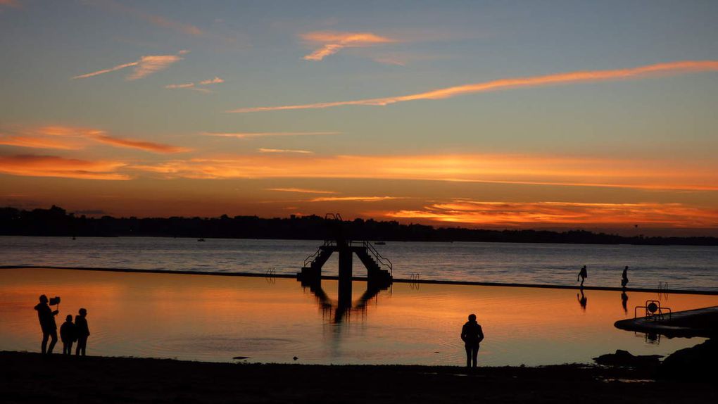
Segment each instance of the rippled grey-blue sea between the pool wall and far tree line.
[{"label": "rippled grey-blue sea between the pool wall and far tree line", "polygon": [[[297,273],[319,241],[187,238],[0,237],[0,265]],[[582,265],[589,286],[718,291],[718,248],[691,246],[516,243],[394,243],[378,245],[396,278],[575,285]],[[332,256],[325,273],[337,273]],[[358,259],[355,273],[362,275]]]}]

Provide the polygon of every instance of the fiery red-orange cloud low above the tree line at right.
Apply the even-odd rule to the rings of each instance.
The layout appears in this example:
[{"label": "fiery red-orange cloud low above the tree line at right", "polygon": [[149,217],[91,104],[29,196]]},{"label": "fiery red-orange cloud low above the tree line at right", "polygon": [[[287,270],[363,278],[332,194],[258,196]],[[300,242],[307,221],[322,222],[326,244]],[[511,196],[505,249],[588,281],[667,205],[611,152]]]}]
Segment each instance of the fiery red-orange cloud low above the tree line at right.
[{"label": "fiery red-orange cloud low above the tree line at right", "polygon": [[648,225],[718,227],[718,210],[678,203],[484,202],[457,199],[424,210],[383,212],[384,217],[477,226]]}]

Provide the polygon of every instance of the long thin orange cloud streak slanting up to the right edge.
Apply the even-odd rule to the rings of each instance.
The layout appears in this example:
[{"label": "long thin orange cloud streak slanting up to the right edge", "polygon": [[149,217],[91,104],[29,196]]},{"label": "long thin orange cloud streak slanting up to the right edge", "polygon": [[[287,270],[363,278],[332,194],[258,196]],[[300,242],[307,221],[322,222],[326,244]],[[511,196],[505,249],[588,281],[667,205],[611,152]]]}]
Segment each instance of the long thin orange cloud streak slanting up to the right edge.
[{"label": "long thin orange cloud streak slanting up to the right edge", "polygon": [[261,111],[286,111],[299,109],[332,108],[342,105],[390,105],[414,100],[441,100],[457,95],[472,93],[488,93],[491,91],[508,90],[513,88],[531,88],[546,85],[561,85],[569,83],[592,83],[612,80],[640,79],[645,77],[661,77],[680,75],[691,72],[718,71],[718,60],[685,60],[680,62],[658,63],[617,70],[588,70],[578,72],[558,73],[554,75],[541,75],[532,77],[516,77],[492,80],[484,83],[457,85],[440,88],[410,95],[386,98],[368,98],[365,100],[335,101],[330,103],[312,103],[301,105],[280,105],[269,107],[238,108],[227,111],[230,113],[248,113]]}]

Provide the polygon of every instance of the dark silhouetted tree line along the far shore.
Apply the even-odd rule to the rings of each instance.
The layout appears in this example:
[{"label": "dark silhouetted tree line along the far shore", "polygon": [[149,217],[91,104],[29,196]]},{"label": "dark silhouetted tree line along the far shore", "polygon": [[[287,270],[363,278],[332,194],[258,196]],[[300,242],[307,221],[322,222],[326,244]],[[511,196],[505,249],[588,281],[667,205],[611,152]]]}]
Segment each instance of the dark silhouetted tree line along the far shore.
[{"label": "dark silhouetted tree line along the far shore", "polygon": [[503,243],[574,243],[640,245],[718,245],[713,237],[625,237],[585,230],[477,230],[462,227],[435,228],[402,225],[373,219],[337,222],[317,215],[264,219],[256,216],[229,217],[77,217],[61,207],[19,210],[0,208],[0,235],[65,237],[186,237],[186,238],[273,238],[324,240],[340,225],[346,238],[386,241],[475,241]]}]

